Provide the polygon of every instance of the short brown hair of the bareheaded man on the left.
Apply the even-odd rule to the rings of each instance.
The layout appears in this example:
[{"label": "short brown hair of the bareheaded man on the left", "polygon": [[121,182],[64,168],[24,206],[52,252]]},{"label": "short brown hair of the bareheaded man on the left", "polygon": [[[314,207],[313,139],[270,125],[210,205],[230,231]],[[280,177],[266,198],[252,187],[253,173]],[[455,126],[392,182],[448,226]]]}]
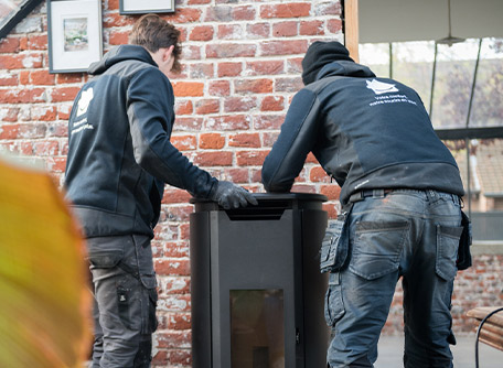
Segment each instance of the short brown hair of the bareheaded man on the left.
[{"label": "short brown hair of the bareheaded man on the left", "polygon": [[132,26],[131,34],[129,35],[129,43],[132,45],[143,46],[151,53],[156,53],[159,48],[173,48],[173,72],[180,72],[182,66],[180,65],[180,54],[182,53],[182,46],[179,43],[180,31],[176,30],[172,24],[157,14],[142,15],[136,21]]}]

